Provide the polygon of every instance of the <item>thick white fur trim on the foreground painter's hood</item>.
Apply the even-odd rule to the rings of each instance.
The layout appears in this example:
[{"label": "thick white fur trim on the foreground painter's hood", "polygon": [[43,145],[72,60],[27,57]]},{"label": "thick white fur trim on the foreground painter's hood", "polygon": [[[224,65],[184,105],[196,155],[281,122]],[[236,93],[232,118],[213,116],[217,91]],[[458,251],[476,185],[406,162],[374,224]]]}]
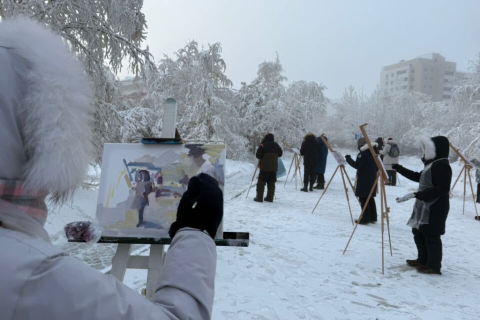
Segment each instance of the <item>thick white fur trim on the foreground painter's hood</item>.
[{"label": "thick white fur trim on the foreground painter's hood", "polygon": [[61,37],[27,18],[4,19],[0,45],[28,64],[25,95],[15,106],[27,156],[24,185],[49,190],[52,200],[63,202],[82,182],[91,159],[90,82]]}]

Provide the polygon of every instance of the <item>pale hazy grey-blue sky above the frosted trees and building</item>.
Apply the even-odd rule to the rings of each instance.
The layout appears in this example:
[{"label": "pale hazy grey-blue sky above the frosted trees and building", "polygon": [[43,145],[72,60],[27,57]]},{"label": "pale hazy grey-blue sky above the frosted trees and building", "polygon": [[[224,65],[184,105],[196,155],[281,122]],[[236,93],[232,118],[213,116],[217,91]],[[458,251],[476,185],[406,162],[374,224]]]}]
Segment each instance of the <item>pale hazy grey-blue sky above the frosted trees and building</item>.
[{"label": "pale hazy grey-blue sky above the frosted trees and building", "polygon": [[333,99],[350,84],[370,93],[383,65],[438,52],[466,70],[480,50],[480,0],[144,0],[143,12],[156,61],[189,39],[221,42],[238,88],[276,51],[288,81]]}]

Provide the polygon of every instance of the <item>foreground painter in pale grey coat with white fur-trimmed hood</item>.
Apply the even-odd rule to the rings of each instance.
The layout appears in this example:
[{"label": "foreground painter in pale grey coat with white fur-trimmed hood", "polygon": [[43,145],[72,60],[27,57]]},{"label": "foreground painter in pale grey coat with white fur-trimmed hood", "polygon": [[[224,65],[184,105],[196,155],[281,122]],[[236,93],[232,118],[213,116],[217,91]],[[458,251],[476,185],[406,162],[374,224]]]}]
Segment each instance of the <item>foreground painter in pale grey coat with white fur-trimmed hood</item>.
[{"label": "foreground painter in pale grey coat with white fur-trimmed hood", "polygon": [[[92,90],[61,38],[0,22],[1,319],[209,319],[222,193],[192,177],[150,300],[53,246],[45,198],[62,204],[90,159]],[[196,205],[192,205],[196,203]],[[180,266],[180,267],[179,267]]]}]

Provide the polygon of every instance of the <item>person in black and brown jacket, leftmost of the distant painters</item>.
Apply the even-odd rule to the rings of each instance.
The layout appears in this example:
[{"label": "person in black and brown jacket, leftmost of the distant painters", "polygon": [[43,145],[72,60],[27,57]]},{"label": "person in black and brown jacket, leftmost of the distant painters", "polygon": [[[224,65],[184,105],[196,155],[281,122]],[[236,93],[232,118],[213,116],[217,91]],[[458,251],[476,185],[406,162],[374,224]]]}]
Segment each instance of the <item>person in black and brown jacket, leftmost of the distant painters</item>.
[{"label": "person in black and brown jacket, leftmost of the distant painters", "polygon": [[[260,145],[256,149],[256,158],[258,159],[258,182],[256,183],[256,197],[253,201],[273,202],[275,193],[276,171],[278,170],[278,158],[283,155],[283,151],[278,143],[275,142],[272,133],[267,133],[263,137]],[[266,184],[266,197],[263,198],[263,191]]]}]

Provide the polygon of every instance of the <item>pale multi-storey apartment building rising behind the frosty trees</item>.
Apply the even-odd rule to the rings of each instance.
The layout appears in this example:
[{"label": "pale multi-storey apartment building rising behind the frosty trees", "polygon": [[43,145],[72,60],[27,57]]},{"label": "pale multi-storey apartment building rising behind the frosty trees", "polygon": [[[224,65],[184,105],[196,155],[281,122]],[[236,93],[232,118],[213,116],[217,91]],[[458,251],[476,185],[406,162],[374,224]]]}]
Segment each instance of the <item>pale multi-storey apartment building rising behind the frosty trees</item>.
[{"label": "pale multi-storey apartment building rising behind the frosty trees", "polygon": [[438,53],[428,53],[383,66],[380,88],[392,93],[400,90],[422,92],[430,95],[433,101],[449,100],[453,86],[468,75],[456,71],[456,62],[446,61]]}]

